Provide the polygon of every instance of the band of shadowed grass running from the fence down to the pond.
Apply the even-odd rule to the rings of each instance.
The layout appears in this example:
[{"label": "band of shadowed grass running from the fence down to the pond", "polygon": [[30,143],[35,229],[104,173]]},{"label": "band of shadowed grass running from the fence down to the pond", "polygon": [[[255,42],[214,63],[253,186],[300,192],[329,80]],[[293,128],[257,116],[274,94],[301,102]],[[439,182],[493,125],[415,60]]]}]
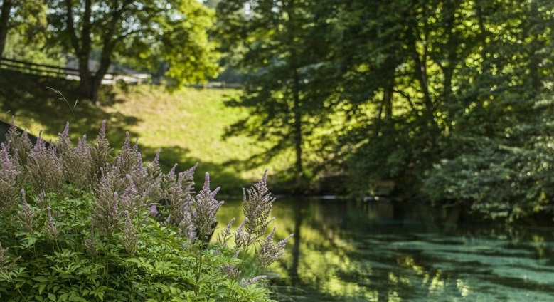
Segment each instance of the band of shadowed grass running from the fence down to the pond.
[{"label": "band of shadowed grass running from the fence down to the pond", "polygon": [[[62,95],[65,100],[60,100]],[[19,127],[25,129],[25,121],[33,120],[41,125],[42,130],[49,135],[57,135],[63,131],[65,123],[70,123],[70,137],[73,142],[83,134],[87,140],[92,141],[97,137],[102,120],[107,121],[106,135],[110,145],[119,150],[125,139],[125,132],[129,132],[131,140],[140,137],[140,133],[130,132],[133,125],[141,122],[135,116],[124,115],[120,112],[108,113],[105,108],[122,102],[114,93],[112,86],[104,85],[99,92],[102,106],[92,104],[89,100],[80,100],[78,94],[78,82],[63,78],[46,78],[38,75],[28,75],[15,71],[0,69],[0,112],[1,116],[15,116],[16,120],[23,120]],[[75,105],[77,101],[77,105]],[[113,110],[112,110],[113,111]],[[6,120],[10,122],[10,120]],[[30,123],[30,122],[29,122]],[[38,130],[31,132],[38,135]],[[240,167],[233,163],[221,165],[215,162],[205,162],[196,157],[190,157],[190,150],[177,146],[162,146],[160,165],[167,172],[175,163],[178,164],[177,172],[187,170],[199,163],[196,170],[196,190],[201,189],[204,182],[204,173],[211,175],[211,187],[221,187],[220,195],[241,196],[242,187],[250,187],[252,183],[240,177]],[[142,146],[139,140],[139,150],[145,162],[154,159],[158,148]],[[262,175],[260,175],[262,177]]]}]

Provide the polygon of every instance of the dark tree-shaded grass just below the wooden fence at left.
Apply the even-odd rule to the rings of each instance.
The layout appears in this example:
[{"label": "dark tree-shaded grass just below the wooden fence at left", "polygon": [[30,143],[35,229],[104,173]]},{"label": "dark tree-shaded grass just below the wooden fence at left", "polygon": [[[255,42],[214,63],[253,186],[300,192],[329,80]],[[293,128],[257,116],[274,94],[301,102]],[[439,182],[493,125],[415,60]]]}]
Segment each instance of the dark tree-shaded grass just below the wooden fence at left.
[{"label": "dark tree-shaded grass just below the wooden fence at left", "polygon": [[[62,95],[53,89],[60,91]],[[121,101],[116,99],[110,86],[102,86],[100,95],[106,103],[113,104]],[[89,140],[96,137],[102,120],[107,120],[107,135],[114,145],[120,145],[129,126],[140,121],[136,117],[121,113],[106,113],[89,100],[80,100],[77,81],[6,70],[0,70],[0,110],[4,116],[15,116],[16,120],[18,117],[23,117],[23,120],[34,120],[41,124],[44,132],[50,135],[62,132],[65,123],[69,122],[72,138],[87,134]],[[28,125],[18,126],[28,127]],[[33,134],[38,135],[38,133]],[[131,135],[137,136],[136,133]]]}]

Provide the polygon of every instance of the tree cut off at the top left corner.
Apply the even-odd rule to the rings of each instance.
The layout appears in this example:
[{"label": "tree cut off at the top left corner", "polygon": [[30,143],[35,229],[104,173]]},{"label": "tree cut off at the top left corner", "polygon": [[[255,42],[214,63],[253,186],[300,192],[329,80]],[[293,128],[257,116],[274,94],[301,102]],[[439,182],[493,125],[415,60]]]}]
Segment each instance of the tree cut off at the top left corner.
[{"label": "tree cut off at the top left corner", "polygon": [[12,28],[23,36],[37,38],[46,25],[46,5],[43,0],[0,0],[0,58],[4,54],[6,39]]}]

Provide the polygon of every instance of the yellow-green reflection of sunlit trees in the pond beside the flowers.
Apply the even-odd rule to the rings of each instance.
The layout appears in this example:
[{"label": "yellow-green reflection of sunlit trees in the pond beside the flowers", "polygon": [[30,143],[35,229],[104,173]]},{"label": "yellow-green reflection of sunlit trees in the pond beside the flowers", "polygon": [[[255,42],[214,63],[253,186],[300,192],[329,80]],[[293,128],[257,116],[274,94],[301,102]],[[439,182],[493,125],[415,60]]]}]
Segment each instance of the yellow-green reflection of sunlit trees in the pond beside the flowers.
[{"label": "yellow-green reflection of sunlit trees in the pond beside the flowers", "polygon": [[[348,239],[351,233],[368,227],[367,213],[356,204],[297,202],[290,207],[294,209],[294,244],[289,249],[288,268],[282,267],[287,271],[288,286],[310,286],[327,296],[361,301],[384,301],[398,296],[399,288],[405,291],[405,278],[390,269],[396,259],[373,257],[376,263],[383,257],[384,264],[373,267],[371,261],[361,259],[356,242]],[[388,218],[393,217],[391,209],[390,205],[380,207]],[[278,214],[277,220],[281,220]]]}]

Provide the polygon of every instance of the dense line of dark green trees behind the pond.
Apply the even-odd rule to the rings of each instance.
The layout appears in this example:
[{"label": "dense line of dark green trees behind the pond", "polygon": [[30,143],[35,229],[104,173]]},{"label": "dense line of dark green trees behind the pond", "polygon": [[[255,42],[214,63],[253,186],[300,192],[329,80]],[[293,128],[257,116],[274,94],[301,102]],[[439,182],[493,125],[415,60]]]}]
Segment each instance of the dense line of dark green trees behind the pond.
[{"label": "dense line of dark green trees behind the pond", "polygon": [[404,196],[495,215],[546,210],[551,4],[220,1],[227,59],[246,74],[234,104],[252,110],[233,130],[294,150],[297,179],[336,170],[361,194],[395,179]]}]

